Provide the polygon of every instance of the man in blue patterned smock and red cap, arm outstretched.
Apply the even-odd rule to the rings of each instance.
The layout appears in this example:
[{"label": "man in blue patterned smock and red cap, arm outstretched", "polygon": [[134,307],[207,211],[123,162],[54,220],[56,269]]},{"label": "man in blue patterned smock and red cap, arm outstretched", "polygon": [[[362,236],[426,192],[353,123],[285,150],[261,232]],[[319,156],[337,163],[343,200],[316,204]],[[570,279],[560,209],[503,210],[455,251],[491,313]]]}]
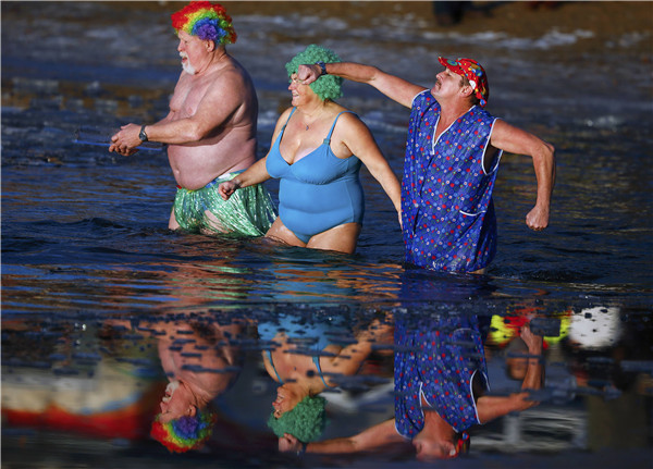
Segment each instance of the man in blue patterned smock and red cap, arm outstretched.
[{"label": "man in blue patterned smock and red cap, arm outstretched", "polygon": [[485,273],[496,254],[492,193],[502,152],[532,158],[537,200],[526,224],[539,232],[549,225],[554,148],[485,110],[488,75],[476,60],[441,57],[439,62],[444,70],[430,89],[353,62],[303,64],[297,75],[305,85],[324,74],[367,83],[410,109],[402,181],[405,261]]}]

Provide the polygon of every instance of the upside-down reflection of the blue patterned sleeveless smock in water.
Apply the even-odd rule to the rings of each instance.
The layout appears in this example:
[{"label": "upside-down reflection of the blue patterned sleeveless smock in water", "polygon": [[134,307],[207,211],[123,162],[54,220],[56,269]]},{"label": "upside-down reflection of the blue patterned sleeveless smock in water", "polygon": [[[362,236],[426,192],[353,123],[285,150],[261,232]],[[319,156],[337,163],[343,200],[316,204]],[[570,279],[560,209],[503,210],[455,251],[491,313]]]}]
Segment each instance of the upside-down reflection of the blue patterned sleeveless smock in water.
[{"label": "upside-down reflection of the blue patterned sleeveless smock in water", "polygon": [[395,324],[395,425],[412,440],[424,427],[422,396],[456,432],[478,423],[472,379],[488,388],[488,366],[476,317],[453,316],[426,328]]}]

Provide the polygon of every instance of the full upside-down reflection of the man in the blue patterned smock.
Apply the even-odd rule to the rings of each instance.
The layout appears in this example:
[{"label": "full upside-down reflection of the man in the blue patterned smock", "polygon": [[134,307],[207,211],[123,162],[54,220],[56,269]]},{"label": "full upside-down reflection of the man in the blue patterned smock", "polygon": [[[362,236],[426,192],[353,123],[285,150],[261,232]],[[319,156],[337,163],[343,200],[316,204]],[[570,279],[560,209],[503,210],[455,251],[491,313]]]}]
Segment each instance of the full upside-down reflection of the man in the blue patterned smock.
[{"label": "full upside-down reflection of the man in the blue patterned smock", "polygon": [[[457,457],[469,447],[468,431],[538,404],[531,391],[543,384],[542,337],[520,329],[526,354],[521,390],[490,395],[485,354],[476,316],[455,311],[434,317],[395,317],[394,419],[349,436],[306,444],[297,435],[280,439],[280,449],[308,453],[369,453],[408,444],[420,460]],[[289,433],[289,432],[288,432]]]}]

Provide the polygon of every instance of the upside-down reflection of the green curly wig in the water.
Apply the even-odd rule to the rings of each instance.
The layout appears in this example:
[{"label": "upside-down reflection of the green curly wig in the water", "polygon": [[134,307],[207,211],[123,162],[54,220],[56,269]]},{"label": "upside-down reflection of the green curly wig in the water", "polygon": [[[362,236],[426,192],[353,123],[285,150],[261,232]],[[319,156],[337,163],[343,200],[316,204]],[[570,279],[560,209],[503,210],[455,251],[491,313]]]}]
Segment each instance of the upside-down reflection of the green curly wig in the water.
[{"label": "upside-down reflection of the green curly wig in the water", "polygon": [[284,412],[280,418],[274,412],[268,419],[268,427],[274,434],[283,437],[289,433],[303,443],[317,440],[326,427],[324,405],[326,399],[321,396],[307,396],[293,410]]}]

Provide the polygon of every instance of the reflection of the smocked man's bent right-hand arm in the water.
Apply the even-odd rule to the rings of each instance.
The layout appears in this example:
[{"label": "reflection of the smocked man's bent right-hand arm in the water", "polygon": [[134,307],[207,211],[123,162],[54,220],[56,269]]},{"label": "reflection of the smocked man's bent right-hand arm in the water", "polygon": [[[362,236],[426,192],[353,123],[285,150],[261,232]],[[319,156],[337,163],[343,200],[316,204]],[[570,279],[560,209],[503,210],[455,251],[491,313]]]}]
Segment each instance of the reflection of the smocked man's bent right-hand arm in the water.
[{"label": "reflection of the smocked man's bent right-hand arm in the water", "polygon": [[542,387],[543,371],[542,365],[542,344],[543,340],[539,335],[534,335],[530,326],[525,324],[520,331],[521,338],[528,346],[528,368],[523,382],[521,383],[521,392],[510,394],[509,396],[481,396],[478,400],[479,420],[481,423],[488,423],[497,417],[505,416],[509,412],[521,411],[534,407],[540,404],[530,398],[529,391],[539,390]]}]

